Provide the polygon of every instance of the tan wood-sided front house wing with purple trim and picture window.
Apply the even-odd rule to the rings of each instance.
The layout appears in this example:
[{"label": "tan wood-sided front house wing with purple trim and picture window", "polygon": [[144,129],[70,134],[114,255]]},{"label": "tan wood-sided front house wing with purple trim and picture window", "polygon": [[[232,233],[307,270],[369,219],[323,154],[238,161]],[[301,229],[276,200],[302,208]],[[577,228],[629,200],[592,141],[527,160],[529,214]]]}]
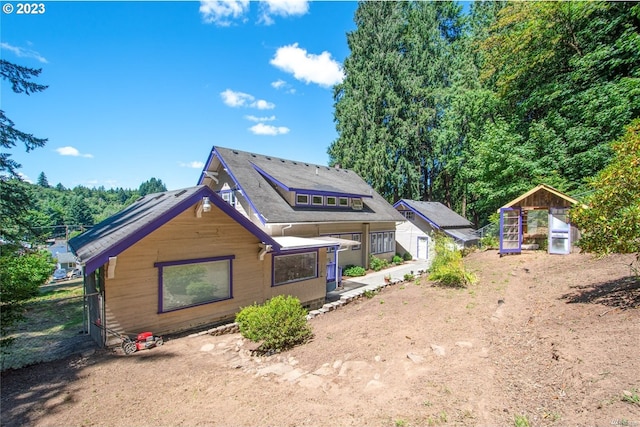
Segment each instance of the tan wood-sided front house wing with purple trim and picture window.
[{"label": "tan wood-sided front house wing with purple trim and picture window", "polygon": [[275,239],[206,185],[149,194],[69,241],[88,330],[167,334],[233,319],[279,294],[324,304],[327,247]]}]

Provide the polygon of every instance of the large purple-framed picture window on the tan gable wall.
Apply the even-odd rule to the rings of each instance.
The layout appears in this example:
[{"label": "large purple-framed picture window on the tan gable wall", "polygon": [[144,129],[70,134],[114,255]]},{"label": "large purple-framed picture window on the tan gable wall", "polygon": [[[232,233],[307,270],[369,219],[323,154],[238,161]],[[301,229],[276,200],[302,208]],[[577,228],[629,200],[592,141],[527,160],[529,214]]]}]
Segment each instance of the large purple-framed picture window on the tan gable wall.
[{"label": "large purple-framed picture window on the tan gable wall", "polygon": [[159,262],[158,311],[208,304],[232,298],[231,277],[234,256]]}]

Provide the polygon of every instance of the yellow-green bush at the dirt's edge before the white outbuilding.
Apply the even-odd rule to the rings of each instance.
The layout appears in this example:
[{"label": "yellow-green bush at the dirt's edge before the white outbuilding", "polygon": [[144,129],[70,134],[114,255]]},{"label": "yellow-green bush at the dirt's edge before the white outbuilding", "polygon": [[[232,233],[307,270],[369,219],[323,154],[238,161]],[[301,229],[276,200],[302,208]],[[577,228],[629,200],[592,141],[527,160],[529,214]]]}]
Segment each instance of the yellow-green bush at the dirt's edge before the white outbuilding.
[{"label": "yellow-green bush at the dirt's edge before the white outbuilding", "polygon": [[465,271],[461,252],[452,238],[436,236],[436,256],[431,264],[429,280],[443,286],[466,287],[475,281],[473,274]]}]

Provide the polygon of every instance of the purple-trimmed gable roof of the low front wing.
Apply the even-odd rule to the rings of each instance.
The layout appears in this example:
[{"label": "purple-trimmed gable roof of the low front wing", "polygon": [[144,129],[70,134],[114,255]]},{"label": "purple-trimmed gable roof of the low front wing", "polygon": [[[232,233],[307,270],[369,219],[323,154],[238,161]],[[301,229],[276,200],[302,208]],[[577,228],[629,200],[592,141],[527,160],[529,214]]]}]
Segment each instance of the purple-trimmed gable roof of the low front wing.
[{"label": "purple-trimmed gable roof of the low front wing", "polygon": [[117,214],[69,240],[69,246],[85,265],[85,274],[90,274],[105,264],[109,257],[117,256],[194,206],[205,196],[262,242],[280,249],[280,245],[269,235],[204,185],[143,196]]}]

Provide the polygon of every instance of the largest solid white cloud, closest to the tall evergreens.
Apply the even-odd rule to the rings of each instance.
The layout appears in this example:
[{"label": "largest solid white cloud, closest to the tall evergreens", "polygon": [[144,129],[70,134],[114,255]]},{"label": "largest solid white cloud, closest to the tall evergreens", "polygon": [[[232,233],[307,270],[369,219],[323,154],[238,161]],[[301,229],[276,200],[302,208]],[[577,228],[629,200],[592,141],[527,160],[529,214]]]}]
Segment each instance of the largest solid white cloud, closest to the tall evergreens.
[{"label": "largest solid white cloud, closest to the tall evergreens", "polygon": [[305,83],[329,87],[344,79],[342,66],[331,59],[329,52],[320,55],[307,53],[298,47],[298,43],[278,48],[270,63]]}]

